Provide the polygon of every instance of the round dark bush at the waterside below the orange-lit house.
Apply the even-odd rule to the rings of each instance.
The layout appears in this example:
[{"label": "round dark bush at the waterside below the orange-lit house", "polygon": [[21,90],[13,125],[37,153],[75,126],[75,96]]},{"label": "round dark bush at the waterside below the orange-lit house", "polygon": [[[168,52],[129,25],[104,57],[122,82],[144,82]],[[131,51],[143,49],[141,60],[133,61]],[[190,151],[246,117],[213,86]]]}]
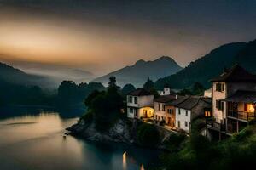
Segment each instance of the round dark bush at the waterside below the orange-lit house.
[{"label": "round dark bush at the waterside below the orange-lit house", "polygon": [[146,147],[154,147],[160,142],[160,133],[152,124],[143,123],[137,129],[138,144]]}]

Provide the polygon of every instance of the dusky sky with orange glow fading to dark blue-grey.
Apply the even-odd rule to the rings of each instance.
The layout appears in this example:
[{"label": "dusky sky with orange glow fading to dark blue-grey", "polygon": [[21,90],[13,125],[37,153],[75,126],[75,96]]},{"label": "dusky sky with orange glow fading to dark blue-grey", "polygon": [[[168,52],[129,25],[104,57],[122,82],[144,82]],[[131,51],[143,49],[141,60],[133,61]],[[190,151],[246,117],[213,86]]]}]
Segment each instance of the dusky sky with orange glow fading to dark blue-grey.
[{"label": "dusky sky with orange glow fading to dark blue-grey", "polygon": [[102,75],[162,55],[186,66],[256,38],[254,0],[0,0],[0,61]]}]

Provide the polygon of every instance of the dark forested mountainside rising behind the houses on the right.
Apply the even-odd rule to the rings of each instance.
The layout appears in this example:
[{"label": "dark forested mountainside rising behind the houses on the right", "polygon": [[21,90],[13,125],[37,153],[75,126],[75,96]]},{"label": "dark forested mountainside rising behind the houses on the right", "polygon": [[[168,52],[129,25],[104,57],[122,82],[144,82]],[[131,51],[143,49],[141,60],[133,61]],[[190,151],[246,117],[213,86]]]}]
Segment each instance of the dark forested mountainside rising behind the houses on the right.
[{"label": "dark forested mountainside rising behind the houses on the right", "polygon": [[212,77],[218,76],[225,67],[231,67],[239,59],[244,60],[241,57],[243,55],[241,54],[239,57],[238,54],[247,48],[247,45],[246,42],[234,42],[215,48],[209,54],[191,62],[182,71],[160,78],[155,82],[155,87],[163,88],[168,83],[172,88],[188,88],[195,82],[201,82],[206,88],[209,88],[211,84],[209,80]]}]

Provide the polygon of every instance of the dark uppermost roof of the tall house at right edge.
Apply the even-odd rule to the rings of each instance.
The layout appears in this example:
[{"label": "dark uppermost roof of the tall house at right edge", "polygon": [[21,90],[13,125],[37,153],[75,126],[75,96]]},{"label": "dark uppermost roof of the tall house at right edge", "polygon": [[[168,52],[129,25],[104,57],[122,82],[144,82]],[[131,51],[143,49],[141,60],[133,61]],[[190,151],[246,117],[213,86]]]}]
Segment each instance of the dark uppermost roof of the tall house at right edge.
[{"label": "dark uppermost roof of the tall house at right edge", "polygon": [[256,82],[256,76],[249,73],[239,65],[234,65],[229,71],[225,71],[212,82]]}]

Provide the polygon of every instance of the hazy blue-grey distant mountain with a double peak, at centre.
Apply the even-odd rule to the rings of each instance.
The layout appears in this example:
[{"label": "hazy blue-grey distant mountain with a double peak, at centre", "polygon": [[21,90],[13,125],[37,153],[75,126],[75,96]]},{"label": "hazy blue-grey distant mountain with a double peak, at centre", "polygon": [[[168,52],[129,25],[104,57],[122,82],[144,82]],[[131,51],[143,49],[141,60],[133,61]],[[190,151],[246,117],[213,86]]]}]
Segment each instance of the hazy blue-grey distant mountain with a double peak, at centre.
[{"label": "hazy blue-grey distant mountain with a double peak, at centre", "polygon": [[134,86],[142,87],[147,77],[155,81],[160,77],[166,77],[180,70],[182,70],[182,67],[177,65],[175,60],[167,56],[160,57],[160,59],[153,61],[140,59],[135,65],[126,66],[103,77],[98,77],[94,79],[93,82],[102,82],[104,85],[107,85],[109,82],[108,78],[114,76],[119,86],[131,83]]}]

